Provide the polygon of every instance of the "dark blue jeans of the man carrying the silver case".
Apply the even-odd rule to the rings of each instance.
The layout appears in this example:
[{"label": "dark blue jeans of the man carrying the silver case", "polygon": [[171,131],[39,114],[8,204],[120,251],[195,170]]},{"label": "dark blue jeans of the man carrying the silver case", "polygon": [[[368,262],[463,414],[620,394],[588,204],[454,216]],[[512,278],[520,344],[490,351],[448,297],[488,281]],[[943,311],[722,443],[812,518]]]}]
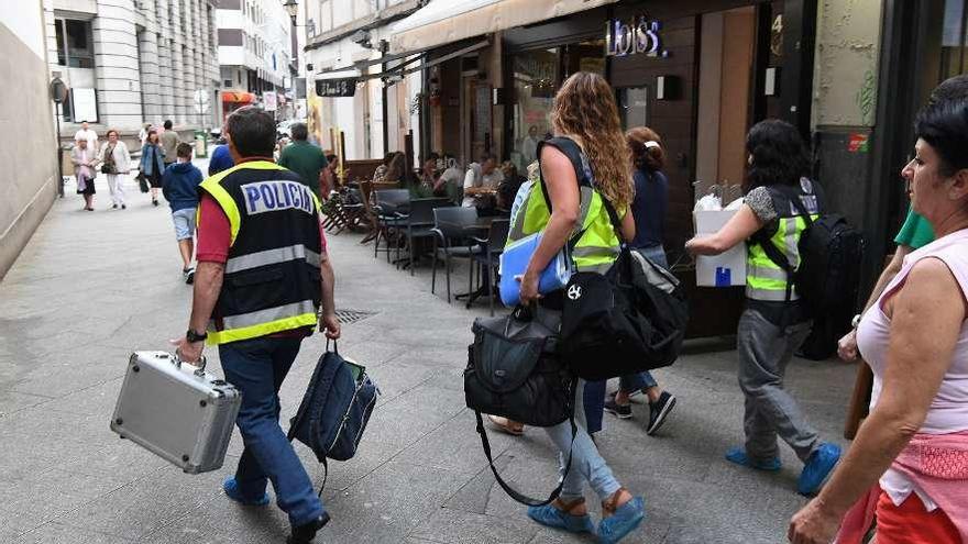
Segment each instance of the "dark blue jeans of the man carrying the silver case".
[{"label": "dark blue jeans of the man carrying the silver case", "polygon": [[312,480],[279,426],[279,387],[301,342],[260,337],[219,346],[226,380],[242,392],[235,420],[245,443],[235,470],[239,491],[245,499],[258,499],[271,480],[278,506],[294,526],[309,523],[324,511]]}]

